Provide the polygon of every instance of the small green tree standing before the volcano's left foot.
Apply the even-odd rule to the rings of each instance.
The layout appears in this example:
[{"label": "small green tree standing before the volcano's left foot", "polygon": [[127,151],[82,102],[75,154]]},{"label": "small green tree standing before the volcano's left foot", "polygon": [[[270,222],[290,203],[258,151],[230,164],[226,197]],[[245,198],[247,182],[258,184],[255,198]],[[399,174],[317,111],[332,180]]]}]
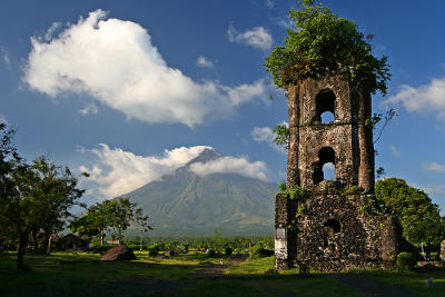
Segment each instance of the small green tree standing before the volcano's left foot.
[{"label": "small green tree standing before the volcano's left foot", "polygon": [[71,224],[71,230],[81,236],[100,236],[100,244],[103,245],[105,231],[113,230],[113,237],[122,240],[123,231],[131,225],[137,225],[144,231],[151,229],[148,225],[148,216],[142,215],[142,209],[136,208],[137,204],[129,198],[116,198],[97,202],[88,209],[87,215],[76,219]]}]

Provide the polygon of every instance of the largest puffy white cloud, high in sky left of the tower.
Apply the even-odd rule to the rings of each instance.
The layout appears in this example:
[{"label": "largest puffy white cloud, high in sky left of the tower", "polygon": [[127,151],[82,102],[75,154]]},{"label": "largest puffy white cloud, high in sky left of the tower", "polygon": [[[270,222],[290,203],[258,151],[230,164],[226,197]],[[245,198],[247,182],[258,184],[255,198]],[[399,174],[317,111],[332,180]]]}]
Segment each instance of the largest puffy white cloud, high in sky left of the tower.
[{"label": "largest puffy white cloud, high in sky left of the tower", "polygon": [[[266,92],[263,79],[235,87],[194,81],[167,65],[146,29],[107,19],[102,10],[65,29],[59,27],[56,23],[43,37],[31,38],[22,78],[30,89],[50,97],[87,93],[130,119],[192,127],[207,119],[228,118],[239,103],[260,99]],[[267,38],[256,40],[260,44]]]}]

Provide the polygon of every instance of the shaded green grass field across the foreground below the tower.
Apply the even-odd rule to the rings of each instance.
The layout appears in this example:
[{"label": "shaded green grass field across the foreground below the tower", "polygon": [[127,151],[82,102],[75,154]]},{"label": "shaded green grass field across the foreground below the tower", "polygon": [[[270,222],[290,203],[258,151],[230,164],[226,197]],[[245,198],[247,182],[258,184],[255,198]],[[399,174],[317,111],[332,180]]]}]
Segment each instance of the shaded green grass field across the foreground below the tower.
[{"label": "shaded green grass field across the foreground below the tower", "polygon": [[[269,274],[273,257],[248,259],[230,266],[222,276],[199,276],[218,258],[191,251],[169,259],[136,253],[135,261],[100,261],[90,253],[27,255],[28,271],[16,269],[16,254],[0,253],[1,296],[363,296],[323,274],[309,277],[297,269]],[[228,256],[222,256],[227,261]],[[445,271],[433,274],[354,270],[382,283],[404,287],[422,296],[445,296]],[[428,289],[425,279],[433,277]],[[441,295],[442,294],[442,295]]]}]

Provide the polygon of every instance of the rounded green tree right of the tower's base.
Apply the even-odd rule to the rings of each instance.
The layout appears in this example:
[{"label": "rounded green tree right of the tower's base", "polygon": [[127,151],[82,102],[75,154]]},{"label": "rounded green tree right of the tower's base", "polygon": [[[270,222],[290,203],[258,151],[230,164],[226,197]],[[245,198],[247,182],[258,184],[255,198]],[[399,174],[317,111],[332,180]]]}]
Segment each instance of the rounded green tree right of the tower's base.
[{"label": "rounded green tree right of the tower's base", "polygon": [[376,182],[375,194],[382,211],[398,219],[403,236],[411,242],[437,245],[444,238],[439,209],[423,190],[403,179],[386,178]]}]

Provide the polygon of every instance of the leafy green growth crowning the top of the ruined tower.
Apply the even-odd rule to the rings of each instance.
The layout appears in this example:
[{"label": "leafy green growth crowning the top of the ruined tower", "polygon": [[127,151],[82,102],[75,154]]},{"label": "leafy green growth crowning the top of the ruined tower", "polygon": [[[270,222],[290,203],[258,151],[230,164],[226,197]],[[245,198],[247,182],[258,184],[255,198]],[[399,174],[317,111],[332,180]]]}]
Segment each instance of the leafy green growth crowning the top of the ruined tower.
[{"label": "leafy green growth crowning the top of the ruined tower", "polygon": [[295,29],[287,31],[285,46],[275,47],[265,65],[278,88],[340,73],[353,86],[386,93],[390,78],[387,58],[373,56],[372,46],[353,21],[339,18],[323,4],[314,6],[314,0],[300,2],[300,9],[291,9],[289,17]]}]

